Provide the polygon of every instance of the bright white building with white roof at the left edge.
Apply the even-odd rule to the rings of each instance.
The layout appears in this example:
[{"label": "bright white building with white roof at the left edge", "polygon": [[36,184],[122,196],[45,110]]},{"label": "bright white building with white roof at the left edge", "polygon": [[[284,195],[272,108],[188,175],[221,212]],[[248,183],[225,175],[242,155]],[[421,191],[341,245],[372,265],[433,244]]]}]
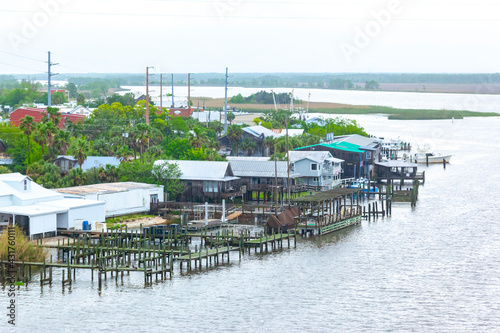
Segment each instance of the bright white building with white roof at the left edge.
[{"label": "bright white building with white roof at the left edge", "polygon": [[20,173],[0,175],[0,226],[20,226],[30,238],[55,236],[57,229],[104,222],[104,202],[65,199]]}]

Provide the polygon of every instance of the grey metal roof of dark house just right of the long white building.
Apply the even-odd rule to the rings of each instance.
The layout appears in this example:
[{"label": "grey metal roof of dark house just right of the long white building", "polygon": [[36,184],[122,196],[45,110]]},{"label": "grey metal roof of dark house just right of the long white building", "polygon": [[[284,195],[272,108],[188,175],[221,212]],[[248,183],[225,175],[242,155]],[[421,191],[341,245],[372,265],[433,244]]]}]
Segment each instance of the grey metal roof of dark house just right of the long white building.
[{"label": "grey metal roof of dark house just right of the long white building", "polygon": [[155,165],[176,163],[182,172],[181,180],[230,181],[238,179],[229,167],[229,162],[158,160]]}]

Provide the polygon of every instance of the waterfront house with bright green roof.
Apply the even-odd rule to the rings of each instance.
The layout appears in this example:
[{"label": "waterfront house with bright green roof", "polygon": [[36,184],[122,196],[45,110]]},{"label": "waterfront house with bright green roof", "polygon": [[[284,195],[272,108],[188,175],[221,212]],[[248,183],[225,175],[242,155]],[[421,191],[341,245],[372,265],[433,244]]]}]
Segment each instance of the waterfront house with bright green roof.
[{"label": "waterfront house with bright green roof", "polygon": [[[296,148],[305,151],[328,151],[333,157],[344,160],[342,164],[342,178],[371,178],[371,168],[367,165],[368,150],[365,147],[350,142],[336,141],[331,143],[319,143],[312,146]],[[369,152],[371,154],[371,152]]]}]

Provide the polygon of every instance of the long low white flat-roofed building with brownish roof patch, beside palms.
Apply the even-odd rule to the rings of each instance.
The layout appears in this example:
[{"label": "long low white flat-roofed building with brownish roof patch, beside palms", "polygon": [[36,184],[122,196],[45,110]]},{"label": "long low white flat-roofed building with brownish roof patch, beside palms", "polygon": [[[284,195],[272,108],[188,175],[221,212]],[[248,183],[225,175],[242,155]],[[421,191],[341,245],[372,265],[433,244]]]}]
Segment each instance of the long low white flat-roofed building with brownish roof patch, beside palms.
[{"label": "long low white flat-roofed building with brownish roof patch, beside palms", "polygon": [[104,201],[106,217],[146,213],[151,202],[164,201],[163,185],[122,182],[59,188],[65,198]]}]

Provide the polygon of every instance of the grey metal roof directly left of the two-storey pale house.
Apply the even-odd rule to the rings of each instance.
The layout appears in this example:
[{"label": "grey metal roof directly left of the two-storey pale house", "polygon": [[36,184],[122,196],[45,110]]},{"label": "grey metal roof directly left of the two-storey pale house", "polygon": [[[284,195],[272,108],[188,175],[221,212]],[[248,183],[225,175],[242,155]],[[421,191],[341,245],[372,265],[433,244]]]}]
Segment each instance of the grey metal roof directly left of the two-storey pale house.
[{"label": "grey metal roof directly left of the two-storey pale house", "polygon": [[[274,161],[229,161],[234,175],[238,177],[274,177]],[[286,178],[288,176],[287,162],[277,161],[278,177]],[[290,171],[290,178],[300,177],[298,172]]]}]

